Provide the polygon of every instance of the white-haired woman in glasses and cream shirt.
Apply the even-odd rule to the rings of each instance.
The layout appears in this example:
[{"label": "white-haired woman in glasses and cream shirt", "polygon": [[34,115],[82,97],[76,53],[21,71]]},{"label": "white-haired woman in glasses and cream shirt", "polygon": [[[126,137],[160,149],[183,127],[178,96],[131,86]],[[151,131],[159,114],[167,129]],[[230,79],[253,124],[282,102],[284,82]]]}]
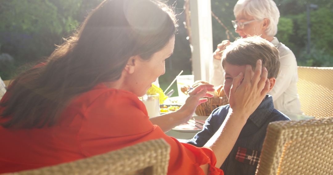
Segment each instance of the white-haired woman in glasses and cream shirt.
[{"label": "white-haired woman in glasses and cream shirt", "polygon": [[[234,9],[235,21],[231,21],[235,31],[241,37],[260,35],[273,43],[279,50],[280,72],[276,78],[275,86],[268,93],[273,96],[274,107],[282,112],[302,114],[300,110],[296,83],[297,62],[293,52],[274,37],[277,33],[280,12],[273,0],[239,0]],[[224,76],[221,67],[221,55],[229,40],[217,45],[213,54],[210,83],[218,86],[223,84]]]}]

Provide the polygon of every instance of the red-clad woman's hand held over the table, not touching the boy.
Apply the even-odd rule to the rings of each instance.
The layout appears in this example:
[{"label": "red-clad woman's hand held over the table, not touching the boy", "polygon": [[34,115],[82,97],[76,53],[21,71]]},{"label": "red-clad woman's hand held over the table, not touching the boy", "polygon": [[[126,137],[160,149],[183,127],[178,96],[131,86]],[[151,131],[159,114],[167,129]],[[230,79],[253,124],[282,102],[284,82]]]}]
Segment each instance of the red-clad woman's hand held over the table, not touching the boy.
[{"label": "red-clad woman's hand held over the table, not touching the boy", "polygon": [[213,85],[201,84],[191,91],[189,91],[189,97],[187,97],[185,104],[178,110],[185,116],[185,122],[187,122],[193,115],[196,107],[207,101],[207,98],[203,97],[213,97],[214,95],[208,93],[207,91],[214,91]]}]

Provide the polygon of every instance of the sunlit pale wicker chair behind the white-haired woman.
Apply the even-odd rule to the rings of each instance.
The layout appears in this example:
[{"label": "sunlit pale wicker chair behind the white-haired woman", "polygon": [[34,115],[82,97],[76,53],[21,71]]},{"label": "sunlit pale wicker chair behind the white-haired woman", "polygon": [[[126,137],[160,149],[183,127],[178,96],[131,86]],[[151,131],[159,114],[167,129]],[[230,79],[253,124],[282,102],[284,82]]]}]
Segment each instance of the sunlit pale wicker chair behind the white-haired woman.
[{"label": "sunlit pale wicker chair behind the white-haired woman", "polygon": [[333,116],[333,67],[298,67],[297,91],[305,115]]}]

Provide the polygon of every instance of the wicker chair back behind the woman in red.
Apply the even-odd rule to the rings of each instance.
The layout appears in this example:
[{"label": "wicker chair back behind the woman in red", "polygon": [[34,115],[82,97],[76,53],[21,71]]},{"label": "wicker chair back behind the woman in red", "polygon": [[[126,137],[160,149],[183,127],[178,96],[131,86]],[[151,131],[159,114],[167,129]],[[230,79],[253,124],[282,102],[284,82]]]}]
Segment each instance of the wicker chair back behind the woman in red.
[{"label": "wicker chair back behind the woman in red", "polygon": [[4,175],[165,175],[169,153],[170,146],[158,139],[69,163]]}]

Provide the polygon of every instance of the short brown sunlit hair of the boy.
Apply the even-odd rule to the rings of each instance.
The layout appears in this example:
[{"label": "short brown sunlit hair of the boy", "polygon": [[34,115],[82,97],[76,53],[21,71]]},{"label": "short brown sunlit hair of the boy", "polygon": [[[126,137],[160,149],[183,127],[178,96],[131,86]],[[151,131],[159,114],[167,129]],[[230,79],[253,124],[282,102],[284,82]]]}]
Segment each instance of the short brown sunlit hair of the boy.
[{"label": "short brown sunlit hair of the boy", "polygon": [[280,57],[277,48],[260,36],[238,38],[228,45],[222,54],[222,67],[225,62],[232,65],[251,65],[255,69],[258,59],[262,61],[262,67],[268,71],[267,78],[276,78],[280,68]]}]

